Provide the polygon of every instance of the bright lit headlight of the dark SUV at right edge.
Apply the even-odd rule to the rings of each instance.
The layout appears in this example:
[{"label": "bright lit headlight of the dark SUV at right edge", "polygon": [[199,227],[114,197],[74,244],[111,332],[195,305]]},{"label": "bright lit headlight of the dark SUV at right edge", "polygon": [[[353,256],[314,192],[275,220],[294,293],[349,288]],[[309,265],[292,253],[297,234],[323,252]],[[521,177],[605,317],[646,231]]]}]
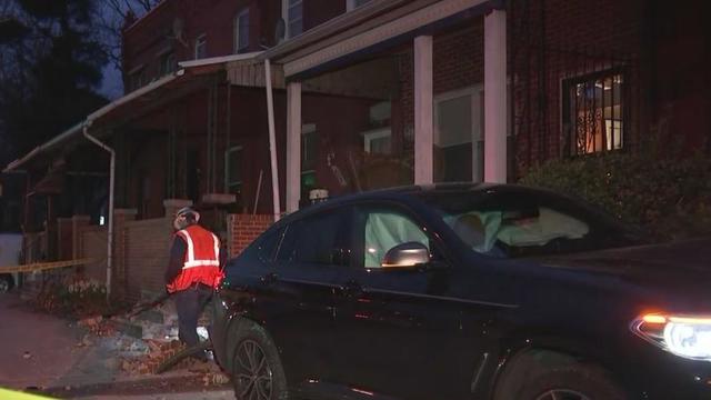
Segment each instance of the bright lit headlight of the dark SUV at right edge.
[{"label": "bright lit headlight of the dark SUV at right edge", "polygon": [[711,318],[645,314],[632,332],[679,357],[711,361]]}]

